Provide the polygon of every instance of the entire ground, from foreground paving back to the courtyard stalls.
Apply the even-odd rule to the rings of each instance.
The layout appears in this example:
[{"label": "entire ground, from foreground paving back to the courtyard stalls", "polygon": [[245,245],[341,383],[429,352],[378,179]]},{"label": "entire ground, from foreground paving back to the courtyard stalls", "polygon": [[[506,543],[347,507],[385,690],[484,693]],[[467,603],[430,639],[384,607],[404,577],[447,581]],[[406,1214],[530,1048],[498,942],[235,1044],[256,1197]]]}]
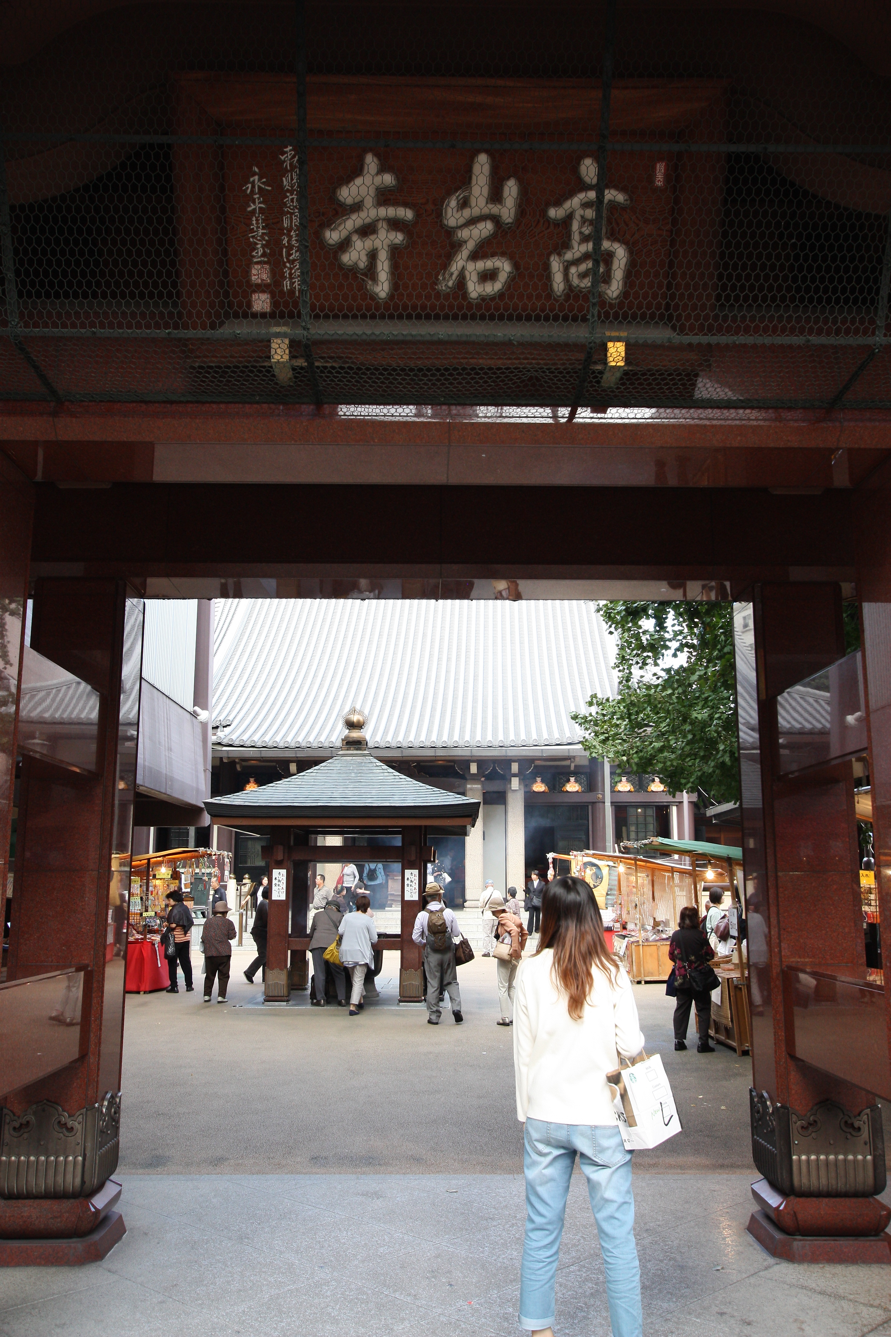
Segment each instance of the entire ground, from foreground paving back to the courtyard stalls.
[{"label": "entire ground, from foreground paving back to the courtyard stalls", "polygon": [[[381,1000],[350,1020],[305,995],[266,1008],[236,952],[226,1005],[130,996],[120,1201],[102,1263],[0,1275],[0,1337],[509,1334],[524,1223],[512,1032],[494,963],[461,969],[466,1021]],[[385,961],[389,957],[385,957]],[[195,956],[200,969],[200,957]],[[672,1001],[637,988],[684,1132],[635,1161],[645,1332],[891,1334],[891,1269],[776,1263],[745,1234],[749,1063],[672,1048]],[[576,1175],[558,1337],[608,1334]]]}]

